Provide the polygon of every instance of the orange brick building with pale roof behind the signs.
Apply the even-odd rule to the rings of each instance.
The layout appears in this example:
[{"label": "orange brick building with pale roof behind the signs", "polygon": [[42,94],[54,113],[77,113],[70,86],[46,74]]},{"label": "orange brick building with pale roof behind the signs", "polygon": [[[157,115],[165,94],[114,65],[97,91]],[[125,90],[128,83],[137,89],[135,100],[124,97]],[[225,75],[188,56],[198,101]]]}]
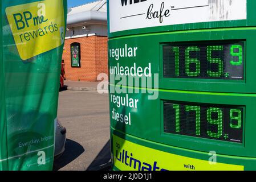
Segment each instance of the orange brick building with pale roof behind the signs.
[{"label": "orange brick building with pale roof behind the signs", "polygon": [[62,62],[66,80],[96,81],[108,73],[107,0],[68,10]]}]

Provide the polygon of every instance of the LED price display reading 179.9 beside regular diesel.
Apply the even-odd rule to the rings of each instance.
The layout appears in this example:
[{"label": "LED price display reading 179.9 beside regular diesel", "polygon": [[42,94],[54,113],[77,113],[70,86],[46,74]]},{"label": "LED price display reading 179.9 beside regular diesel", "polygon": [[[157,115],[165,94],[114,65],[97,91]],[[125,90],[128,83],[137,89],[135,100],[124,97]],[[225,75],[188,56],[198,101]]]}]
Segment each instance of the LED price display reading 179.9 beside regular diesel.
[{"label": "LED price display reading 179.9 beside regular diesel", "polygon": [[243,107],[164,102],[164,132],[242,143]]}]

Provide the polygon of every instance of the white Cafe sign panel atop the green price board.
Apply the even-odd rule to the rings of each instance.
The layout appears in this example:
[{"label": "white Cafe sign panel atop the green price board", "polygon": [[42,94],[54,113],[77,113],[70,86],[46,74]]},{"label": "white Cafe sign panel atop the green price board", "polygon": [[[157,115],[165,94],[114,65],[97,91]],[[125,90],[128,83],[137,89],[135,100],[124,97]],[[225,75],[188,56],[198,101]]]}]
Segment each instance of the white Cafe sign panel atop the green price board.
[{"label": "white Cafe sign panel atop the green price board", "polygon": [[[112,11],[113,9],[115,11]],[[137,28],[246,18],[246,0],[109,1],[110,33]]]}]

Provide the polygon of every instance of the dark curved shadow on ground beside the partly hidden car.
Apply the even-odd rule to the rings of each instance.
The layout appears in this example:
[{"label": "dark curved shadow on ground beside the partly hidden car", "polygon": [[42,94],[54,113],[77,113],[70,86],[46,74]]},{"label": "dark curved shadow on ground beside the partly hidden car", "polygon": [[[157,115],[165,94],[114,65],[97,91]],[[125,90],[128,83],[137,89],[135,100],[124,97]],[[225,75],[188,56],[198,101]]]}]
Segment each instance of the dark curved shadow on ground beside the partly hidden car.
[{"label": "dark curved shadow on ground beside the partly hidden car", "polygon": [[65,144],[65,151],[61,156],[54,160],[54,171],[58,171],[60,168],[71,163],[73,160],[78,158],[84,152],[83,146],[79,143],[67,139]]}]

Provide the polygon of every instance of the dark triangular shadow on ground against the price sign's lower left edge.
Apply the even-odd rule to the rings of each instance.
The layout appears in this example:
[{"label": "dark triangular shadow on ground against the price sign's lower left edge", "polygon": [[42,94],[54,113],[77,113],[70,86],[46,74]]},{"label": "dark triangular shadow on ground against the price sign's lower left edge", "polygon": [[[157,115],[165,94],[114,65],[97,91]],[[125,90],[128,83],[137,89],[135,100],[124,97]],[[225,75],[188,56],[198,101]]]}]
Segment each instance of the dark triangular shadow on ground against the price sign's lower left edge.
[{"label": "dark triangular shadow on ground against the price sign's lower left edge", "polygon": [[108,171],[111,169],[110,140],[101,149],[86,171]]}]

